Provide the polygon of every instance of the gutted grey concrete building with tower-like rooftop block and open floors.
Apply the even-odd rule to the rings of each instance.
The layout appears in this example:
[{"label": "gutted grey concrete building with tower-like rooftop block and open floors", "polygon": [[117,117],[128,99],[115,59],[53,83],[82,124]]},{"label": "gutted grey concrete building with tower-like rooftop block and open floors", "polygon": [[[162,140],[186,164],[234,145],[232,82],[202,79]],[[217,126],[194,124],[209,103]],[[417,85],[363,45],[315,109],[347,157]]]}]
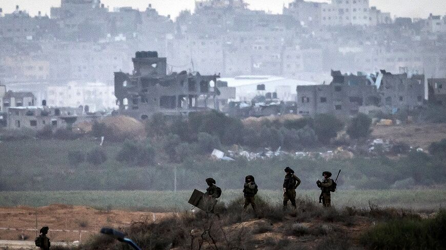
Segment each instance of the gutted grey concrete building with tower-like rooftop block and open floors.
[{"label": "gutted grey concrete building with tower-like rooftop block and open floors", "polygon": [[157,52],[136,52],[130,75],[114,73],[115,96],[119,113],[145,120],[153,113],[187,114],[191,111],[218,109],[217,75],[199,73],[167,74],[165,57]]}]

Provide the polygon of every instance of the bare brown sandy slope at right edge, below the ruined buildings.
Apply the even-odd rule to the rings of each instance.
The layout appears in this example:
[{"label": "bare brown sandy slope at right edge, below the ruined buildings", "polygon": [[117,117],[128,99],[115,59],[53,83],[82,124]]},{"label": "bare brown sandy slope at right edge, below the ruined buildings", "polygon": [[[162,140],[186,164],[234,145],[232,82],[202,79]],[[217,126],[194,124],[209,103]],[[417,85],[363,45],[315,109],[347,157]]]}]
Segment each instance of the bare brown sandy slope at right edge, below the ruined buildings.
[{"label": "bare brown sandy slope at right edge, below the ruined buildings", "polygon": [[374,126],[372,137],[427,149],[432,142],[446,139],[446,124]]}]

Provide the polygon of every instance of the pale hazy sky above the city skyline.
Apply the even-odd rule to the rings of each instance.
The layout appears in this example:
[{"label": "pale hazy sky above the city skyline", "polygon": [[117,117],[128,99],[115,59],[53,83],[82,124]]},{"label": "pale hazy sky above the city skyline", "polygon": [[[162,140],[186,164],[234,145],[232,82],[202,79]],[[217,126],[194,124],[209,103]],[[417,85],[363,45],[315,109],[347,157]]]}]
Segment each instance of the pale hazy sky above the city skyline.
[{"label": "pale hazy sky above the city skyline", "polygon": [[[313,0],[316,2],[328,2],[323,0]],[[145,10],[149,3],[156,8],[160,14],[176,17],[179,11],[194,8],[194,0],[102,0],[110,10],[114,7],[132,6],[139,10]],[[281,13],[283,4],[293,2],[293,0],[246,0],[251,9],[266,10],[272,13]],[[0,0],[0,8],[4,12],[11,12],[19,5],[21,9],[27,10],[31,15],[36,15],[37,11],[43,14],[50,14],[50,7],[60,6],[60,0]],[[385,12],[391,12],[394,16],[423,17],[429,13],[446,14],[446,0],[370,0],[371,6],[377,6]]]}]

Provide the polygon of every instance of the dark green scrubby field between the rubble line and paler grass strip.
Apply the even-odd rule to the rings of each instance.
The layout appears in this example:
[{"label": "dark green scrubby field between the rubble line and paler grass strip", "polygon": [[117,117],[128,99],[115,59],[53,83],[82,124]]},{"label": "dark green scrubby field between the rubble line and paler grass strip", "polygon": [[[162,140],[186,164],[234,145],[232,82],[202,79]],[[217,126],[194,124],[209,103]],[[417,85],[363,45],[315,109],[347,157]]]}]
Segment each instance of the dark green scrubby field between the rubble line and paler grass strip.
[{"label": "dark green scrubby field between the rubble line and paler grass strip", "polygon": [[[129,142],[131,144],[131,142]],[[446,161],[439,144],[438,155],[412,152],[395,159],[386,156],[352,159],[273,157],[248,161],[214,161],[207,155],[195,155],[182,163],[152,162],[145,166],[121,161],[123,151],[132,150],[126,143],[106,142],[98,148],[90,139],[23,140],[0,143],[0,190],[173,190],[174,169],[178,190],[200,187],[207,177],[217,180],[222,188],[240,186],[251,174],[262,189],[281,188],[283,169],[291,167],[302,180],[301,189],[315,189],[315,180],[322,171],[334,174],[342,169],[339,189],[411,189],[444,185]],[[130,150],[129,150],[130,149]],[[74,161],[77,154],[91,161]],[[141,150],[141,152],[145,152]],[[127,155],[127,154],[124,154]],[[74,158],[74,160],[73,160]],[[100,162],[95,162],[100,159]]]}]

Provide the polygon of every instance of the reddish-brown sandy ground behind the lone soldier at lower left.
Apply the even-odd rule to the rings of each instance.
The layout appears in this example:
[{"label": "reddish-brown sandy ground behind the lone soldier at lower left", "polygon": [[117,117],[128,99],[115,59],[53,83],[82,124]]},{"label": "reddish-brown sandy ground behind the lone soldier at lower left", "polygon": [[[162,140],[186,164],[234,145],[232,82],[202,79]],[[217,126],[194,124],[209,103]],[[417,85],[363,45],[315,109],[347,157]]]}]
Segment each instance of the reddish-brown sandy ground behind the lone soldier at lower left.
[{"label": "reddish-brown sandy ground behind the lone soldier at lower left", "polygon": [[103,211],[64,204],[39,208],[3,207],[0,208],[0,240],[34,240],[36,220],[37,230],[42,226],[49,226],[48,237],[51,241],[72,242],[84,241],[92,234],[98,233],[102,227],[119,228],[131,224],[132,221],[153,221],[166,215],[122,210]]}]

